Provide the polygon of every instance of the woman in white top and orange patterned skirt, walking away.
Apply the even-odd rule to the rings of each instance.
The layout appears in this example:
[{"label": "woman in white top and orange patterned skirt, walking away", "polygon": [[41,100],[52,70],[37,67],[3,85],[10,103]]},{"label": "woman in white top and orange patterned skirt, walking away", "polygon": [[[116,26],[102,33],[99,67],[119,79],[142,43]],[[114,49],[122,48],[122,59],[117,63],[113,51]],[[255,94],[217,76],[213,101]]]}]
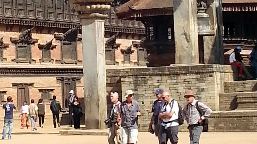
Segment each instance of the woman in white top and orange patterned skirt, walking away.
[{"label": "woman in white top and orange patterned skirt, walking away", "polygon": [[27,105],[27,101],[24,101],[20,111],[21,129],[23,129],[24,127],[27,127],[27,129],[29,128],[30,122],[29,122],[28,116],[29,116],[29,105]]}]

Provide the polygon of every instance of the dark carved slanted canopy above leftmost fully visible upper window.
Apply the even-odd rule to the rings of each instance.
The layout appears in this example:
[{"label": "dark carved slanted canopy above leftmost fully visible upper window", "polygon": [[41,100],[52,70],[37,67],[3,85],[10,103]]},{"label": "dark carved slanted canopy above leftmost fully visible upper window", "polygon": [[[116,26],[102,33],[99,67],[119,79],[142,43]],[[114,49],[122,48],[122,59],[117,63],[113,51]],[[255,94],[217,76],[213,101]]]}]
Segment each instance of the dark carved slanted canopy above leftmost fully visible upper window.
[{"label": "dark carved slanted canopy above leftmost fully visible upper window", "polygon": [[[34,26],[35,27],[35,26]],[[33,28],[27,29],[24,32],[20,34],[19,37],[10,37],[10,40],[12,43],[19,43],[19,42],[25,42],[28,44],[34,44],[37,43],[39,39],[33,39],[32,38],[32,30]]]}]

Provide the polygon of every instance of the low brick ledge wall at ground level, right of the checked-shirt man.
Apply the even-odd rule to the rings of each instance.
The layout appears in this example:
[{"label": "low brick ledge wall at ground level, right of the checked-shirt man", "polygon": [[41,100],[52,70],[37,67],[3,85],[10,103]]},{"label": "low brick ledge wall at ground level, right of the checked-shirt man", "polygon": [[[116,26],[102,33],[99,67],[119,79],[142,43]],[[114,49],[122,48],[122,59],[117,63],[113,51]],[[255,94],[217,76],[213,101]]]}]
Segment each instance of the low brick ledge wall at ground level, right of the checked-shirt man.
[{"label": "low brick ledge wall at ground level, right of the checked-shirt man", "polygon": [[257,110],[213,112],[208,118],[209,131],[256,132]]}]

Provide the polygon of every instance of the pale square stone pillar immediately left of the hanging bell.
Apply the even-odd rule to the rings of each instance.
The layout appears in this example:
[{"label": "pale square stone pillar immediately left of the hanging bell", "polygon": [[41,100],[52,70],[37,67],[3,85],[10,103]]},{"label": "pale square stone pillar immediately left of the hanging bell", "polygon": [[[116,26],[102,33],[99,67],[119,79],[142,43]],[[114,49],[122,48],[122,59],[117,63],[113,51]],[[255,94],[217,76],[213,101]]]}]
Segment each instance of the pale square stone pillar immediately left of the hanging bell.
[{"label": "pale square stone pillar immediately left of the hanging bell", "polygon": [[174,0],[176,64],[199,63],[196,0]]}]

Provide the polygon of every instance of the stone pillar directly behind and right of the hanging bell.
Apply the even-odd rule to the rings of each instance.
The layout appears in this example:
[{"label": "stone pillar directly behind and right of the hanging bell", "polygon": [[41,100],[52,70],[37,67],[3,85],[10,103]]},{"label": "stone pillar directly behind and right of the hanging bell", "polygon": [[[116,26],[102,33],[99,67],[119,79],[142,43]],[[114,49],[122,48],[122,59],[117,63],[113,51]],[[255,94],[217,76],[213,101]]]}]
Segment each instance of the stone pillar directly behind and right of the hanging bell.
[{"label": "stone pillar directly behind and right of the hanging bell", "polygon": [[204,63],[223,64],[223,24],[222,24],[222,5],[221,0],[214,0],[206,11],[210,16],[210,25],[214,29],[214,36],[204,38]]}]

